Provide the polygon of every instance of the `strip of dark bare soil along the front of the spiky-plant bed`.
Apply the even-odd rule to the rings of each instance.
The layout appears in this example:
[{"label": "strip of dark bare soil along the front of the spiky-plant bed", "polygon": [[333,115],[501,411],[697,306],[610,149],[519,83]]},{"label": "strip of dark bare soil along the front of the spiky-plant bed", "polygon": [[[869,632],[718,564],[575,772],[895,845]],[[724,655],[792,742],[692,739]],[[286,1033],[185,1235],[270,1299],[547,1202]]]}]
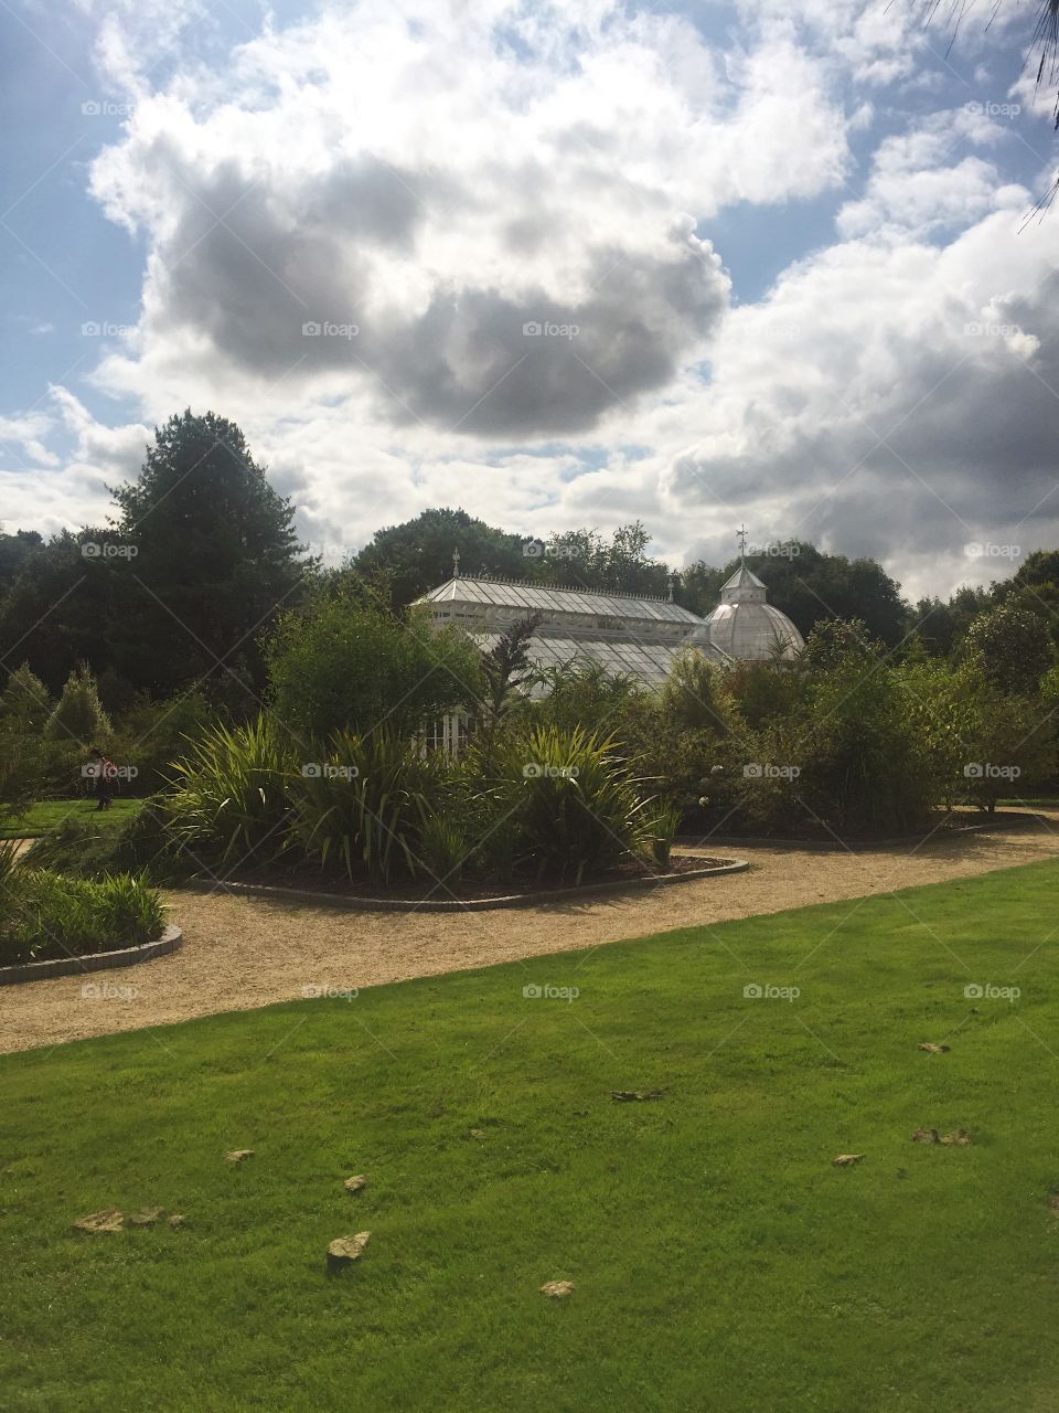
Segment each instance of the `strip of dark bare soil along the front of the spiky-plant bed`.
[{"label": "strip of dark bare soil along the front of the spiky-plant bed", "polygon": [[[610,869],[606,873],[583,879],[579,885],[542,887],[539,883],[477,883],[459,887],[439,886],[436,882],[414,889],[407,882],[385,887],[373,880],[350,880],[342,875],[322,876],[316,872],[299,870],[282,877],[277,875],[239,875],[217,880],[192,879],[182,885],[193,892],[236,893],[251,897],[288,900],[295,903],[319,903],[328,907],[345,907],[360,911],[419,911],[460,913],[484,911],[500,907],[528,907],[538,903],[568,901],[579,897],[594,897],[600,893],[628,889],[664,887],[685,883],[712,875],[740,873],[750,868],[747,859],[713,858],[706,855],[681,855],[671,859],[666,870],[645,869],[638,863]],[[453,896],[455,894],[455,896]]]}]

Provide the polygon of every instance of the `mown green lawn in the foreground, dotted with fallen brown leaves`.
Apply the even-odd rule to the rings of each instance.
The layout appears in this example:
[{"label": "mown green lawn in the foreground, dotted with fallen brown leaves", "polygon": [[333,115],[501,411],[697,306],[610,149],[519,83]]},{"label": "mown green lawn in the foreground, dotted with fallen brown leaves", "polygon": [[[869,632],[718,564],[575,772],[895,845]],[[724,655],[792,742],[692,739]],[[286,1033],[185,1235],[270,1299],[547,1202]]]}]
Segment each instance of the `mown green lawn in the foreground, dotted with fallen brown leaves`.
[{"label": "mown green lawn in the foreground, dotted with fallen brown leaves", "polygon": [[[1058,892],[1034,865],[3,1058],[0,1406],[1052,1413]],[[144,1204],[188,1228],[71,1231]]]}]

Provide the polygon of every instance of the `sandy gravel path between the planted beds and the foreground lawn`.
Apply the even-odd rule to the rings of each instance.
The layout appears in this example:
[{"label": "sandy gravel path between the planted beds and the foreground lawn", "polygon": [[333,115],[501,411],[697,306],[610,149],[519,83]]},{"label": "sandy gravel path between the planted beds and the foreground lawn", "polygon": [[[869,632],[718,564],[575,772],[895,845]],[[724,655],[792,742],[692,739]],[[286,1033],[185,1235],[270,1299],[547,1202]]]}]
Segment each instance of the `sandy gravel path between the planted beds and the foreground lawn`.
[{"label": "sandy gravel path between the planted beds and the foreground lawn", "polygon": [[[487,913],[350,913],[168,893],[184,948],[140,966],[0,988],[0,1053],[246,1010],[304,986],[363,988],[486,966],[668,928],[864,897],[1059,856],[1059,812],[1036,827],[847,853],[740,845],[747,873],[582,903]],[[134,995],[82,996],[96,988]]]}]

